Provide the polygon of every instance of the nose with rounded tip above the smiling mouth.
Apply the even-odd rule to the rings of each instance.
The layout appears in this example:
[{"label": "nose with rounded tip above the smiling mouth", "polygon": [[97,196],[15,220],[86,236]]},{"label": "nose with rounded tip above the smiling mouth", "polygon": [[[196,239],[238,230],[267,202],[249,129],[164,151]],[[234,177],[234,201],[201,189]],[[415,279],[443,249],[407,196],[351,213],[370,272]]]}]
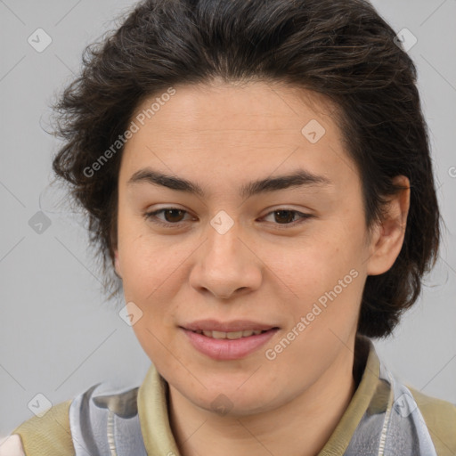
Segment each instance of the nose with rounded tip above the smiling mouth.
[{"label": "nose with rounded tip above the smiling mouth", "polygon": [[263,264],[254,252],[253,242],[242,235],[239,224],[224,234],[210,227],[208,240],[196,254],[190,275],[191,287],[222,299],[258,289]]}]

